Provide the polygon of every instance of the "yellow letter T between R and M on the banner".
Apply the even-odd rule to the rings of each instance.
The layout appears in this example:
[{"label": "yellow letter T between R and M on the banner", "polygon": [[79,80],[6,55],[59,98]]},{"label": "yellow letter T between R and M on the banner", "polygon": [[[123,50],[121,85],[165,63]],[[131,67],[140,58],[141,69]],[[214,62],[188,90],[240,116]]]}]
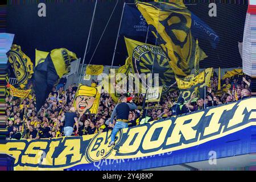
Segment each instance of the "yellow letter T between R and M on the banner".
[{"label": "yellow letter T between R and M on the banner", "polygon": [[205,115],[205,117],[212,115],[212,114],[213,115],[212,115],[212,118],[210,119],[209,126],[205,127],[205,129],[204,129],[204,136],[216,133],[220,129],[221,123],[219,123],[219,121],[220,121],[221,115],[223,114],[223,112],[225,110],[232,110],[234,105],[236,105],[236,103],[223,105],[221,107],[215,107],[208,111],[208,113]]}]

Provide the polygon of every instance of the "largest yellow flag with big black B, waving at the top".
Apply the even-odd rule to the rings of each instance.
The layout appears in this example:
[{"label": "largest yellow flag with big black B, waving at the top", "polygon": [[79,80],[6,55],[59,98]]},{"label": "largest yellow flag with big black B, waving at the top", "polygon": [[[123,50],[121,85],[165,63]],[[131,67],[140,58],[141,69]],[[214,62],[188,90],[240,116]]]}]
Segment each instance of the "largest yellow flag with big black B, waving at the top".
[{"label": "largest yellow flag with big black B, waving at the top", "polygon": [[[191,34],[191,12],[182,1],[137,2],[150,31],[168,57],[176,76],[189,75],[194,67],[196,43]],[[200,60],[207,57],[200,49]]]}]

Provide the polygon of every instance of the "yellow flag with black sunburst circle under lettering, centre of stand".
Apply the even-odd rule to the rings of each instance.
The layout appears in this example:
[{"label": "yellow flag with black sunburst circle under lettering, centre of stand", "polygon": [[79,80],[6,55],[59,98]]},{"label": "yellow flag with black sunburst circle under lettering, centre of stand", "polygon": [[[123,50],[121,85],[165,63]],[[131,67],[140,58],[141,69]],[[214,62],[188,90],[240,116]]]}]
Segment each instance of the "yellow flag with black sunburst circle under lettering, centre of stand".
[{"label": "yellow flag with black sunburst circle under lettering, centre of stand", "polygon": [[[128,55],[131,57],[132,71],[133,73],[139,73],[141,85],[148,79],[150,74],[153,74],[152,76],[154,77],[154,74],[157,73],[158,79],[156,80],[159,81],[157,86],[163,86],[163,93],[176,89],[172,86],[175,82],[174,71],[168,63],[168,58],[162,48],[128,38],[125,38],[125,43]],[[156,85],[154,78],[152,78],[152,84]],[[146,93],[146,89],[142,89],[141,85],[139,87],[140,93]],[[152,87],[151,85],[147,86]]]}]

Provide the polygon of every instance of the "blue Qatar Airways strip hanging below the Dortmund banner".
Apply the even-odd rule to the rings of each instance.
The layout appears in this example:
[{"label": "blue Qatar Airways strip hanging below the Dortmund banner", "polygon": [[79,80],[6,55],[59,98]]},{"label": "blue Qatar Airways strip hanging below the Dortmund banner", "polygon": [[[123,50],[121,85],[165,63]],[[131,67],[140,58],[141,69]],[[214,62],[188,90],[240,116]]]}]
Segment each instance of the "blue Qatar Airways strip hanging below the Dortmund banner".
[{"label": "blue Qatar Airways strip hanging below the Dortmund banner", "polygon": [[[144,156],[131,159],[102,159],[89,164],[80,164],[66,171],[123,171],[142,170],[177,164],[201,162],[211,160],[213,154],[216,158],[227,158],[230,156],[240,156],[253,153],[248,143],[253,142],[252,135],[256,127],[251,126],[225,137],[200,144],[195,147],[183,150],[166,152],[151,156]],[[236,148],[236,150],[234,150]]]}]

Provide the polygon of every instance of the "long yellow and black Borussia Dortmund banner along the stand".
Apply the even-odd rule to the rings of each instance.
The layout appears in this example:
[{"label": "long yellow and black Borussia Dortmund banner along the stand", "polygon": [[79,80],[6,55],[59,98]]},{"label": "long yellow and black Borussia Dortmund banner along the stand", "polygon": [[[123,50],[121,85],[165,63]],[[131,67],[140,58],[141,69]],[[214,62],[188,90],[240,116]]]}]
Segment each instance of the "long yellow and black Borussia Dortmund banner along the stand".
[{"label": "long yellow and black Borussia Dortmund banner along the stand", "polygon": [[[256,126],[256,97],[210,107],[118,131],[40,140],[9,140],[0,152],[13,155],[15,170],[63,170],[101,159],[131,159],[199,146]],[[157,131],[157,132],[156,132]]]}]

